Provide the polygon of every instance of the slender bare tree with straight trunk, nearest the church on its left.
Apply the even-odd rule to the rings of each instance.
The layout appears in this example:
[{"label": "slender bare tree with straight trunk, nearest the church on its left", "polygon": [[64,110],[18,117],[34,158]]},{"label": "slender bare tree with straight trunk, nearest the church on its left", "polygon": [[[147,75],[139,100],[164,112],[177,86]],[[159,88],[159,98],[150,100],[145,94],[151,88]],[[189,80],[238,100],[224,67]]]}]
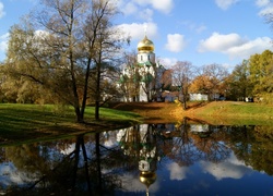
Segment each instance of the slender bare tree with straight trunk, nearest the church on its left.
[{"label": "slender bare tree with straight trunk, nearest the church on its left", "polygon": [[[120,49],[126,41],[121,38],[120,30],[112,27],[110,19],[118,14],[118,10],[110,0],[93,3],[93,13],[88,23],[93,24],[93,30],[85,34],[91,38],[90,52],[95,65],[95,119],[99,119],[102,100],[100,83],[103,73],[118,61]],[[87,23],[87,24],[88,24]],[[87,27],[88,29],[88,27]],[[88,34],[91,32],[91,35]],[[95,35],[94,35],[95,33]],[[128,39],[127,39],[128,40]],[[86,89],[87,90],[87,89]],[[86,102],[86,101],[85,101]]]}]

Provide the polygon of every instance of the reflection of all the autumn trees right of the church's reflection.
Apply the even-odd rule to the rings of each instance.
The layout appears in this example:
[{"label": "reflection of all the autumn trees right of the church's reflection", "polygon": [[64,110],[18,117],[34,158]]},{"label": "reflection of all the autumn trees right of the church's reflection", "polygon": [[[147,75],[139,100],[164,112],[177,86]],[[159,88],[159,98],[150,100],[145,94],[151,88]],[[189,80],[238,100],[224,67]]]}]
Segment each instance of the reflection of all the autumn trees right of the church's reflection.
[{"label": "reflection of all the autumn trees right of the church's reflection", "polygon": [[198,160],[221,162],[234,150],[238,160],[273,175],[273,126],[209,125],[206,133],[194,133],[183,121],[174,132],[179,134],[168,137],[162,148],[164,155],[179,166],[190,166]]}]

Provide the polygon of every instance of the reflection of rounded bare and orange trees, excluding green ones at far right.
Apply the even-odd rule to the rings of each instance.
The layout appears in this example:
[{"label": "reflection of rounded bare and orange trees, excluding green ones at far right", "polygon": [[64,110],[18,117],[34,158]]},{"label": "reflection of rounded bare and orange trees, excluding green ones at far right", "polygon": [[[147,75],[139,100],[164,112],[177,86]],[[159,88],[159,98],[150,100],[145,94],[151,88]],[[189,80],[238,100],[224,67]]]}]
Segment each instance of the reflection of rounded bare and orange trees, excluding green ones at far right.
[{"label": "reflection of rounded bare and orange trees, excluding green ones at far right", "polygon": [[230,149],[225,145],[226,135],[213,126],[193,133],[192,124],[188,124],[186,119],[173,132],[177,134],[173,134],[174,137],[169,137],[163,148],[164,154],[179,166],[190,166],[198,160],[219,162],[230,155]]}]

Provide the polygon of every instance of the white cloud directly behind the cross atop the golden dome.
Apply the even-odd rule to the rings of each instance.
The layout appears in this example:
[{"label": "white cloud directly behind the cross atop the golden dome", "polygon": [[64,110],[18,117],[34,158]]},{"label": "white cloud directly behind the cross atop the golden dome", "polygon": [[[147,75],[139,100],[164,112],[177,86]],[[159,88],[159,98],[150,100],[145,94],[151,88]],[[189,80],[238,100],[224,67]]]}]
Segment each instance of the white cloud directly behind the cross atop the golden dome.
[{"label": "white cloud directly behind the cross atop the golden dome", "polygon": [[119,28],[127,35],[131,36],[132,40],[140,40],[144,37],[144,26],[147,26],[146,35],[153,38],[157,35],[157,25],[155,23],[132,23],[118,25]]}]

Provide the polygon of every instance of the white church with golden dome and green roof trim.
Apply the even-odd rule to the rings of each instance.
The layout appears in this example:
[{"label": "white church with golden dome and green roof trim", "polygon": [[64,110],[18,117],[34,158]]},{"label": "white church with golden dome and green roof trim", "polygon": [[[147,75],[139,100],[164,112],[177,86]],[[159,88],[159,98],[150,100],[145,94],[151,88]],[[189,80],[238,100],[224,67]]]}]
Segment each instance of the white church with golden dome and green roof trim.
[{"label": "white church with golden dome and green roof trim", "polygon": [[128,64],[120,76],[122,101],[152,101],[161,97],[164,66],[155,62],[154,44],[145,35],[138,44],[136,64]]}]

